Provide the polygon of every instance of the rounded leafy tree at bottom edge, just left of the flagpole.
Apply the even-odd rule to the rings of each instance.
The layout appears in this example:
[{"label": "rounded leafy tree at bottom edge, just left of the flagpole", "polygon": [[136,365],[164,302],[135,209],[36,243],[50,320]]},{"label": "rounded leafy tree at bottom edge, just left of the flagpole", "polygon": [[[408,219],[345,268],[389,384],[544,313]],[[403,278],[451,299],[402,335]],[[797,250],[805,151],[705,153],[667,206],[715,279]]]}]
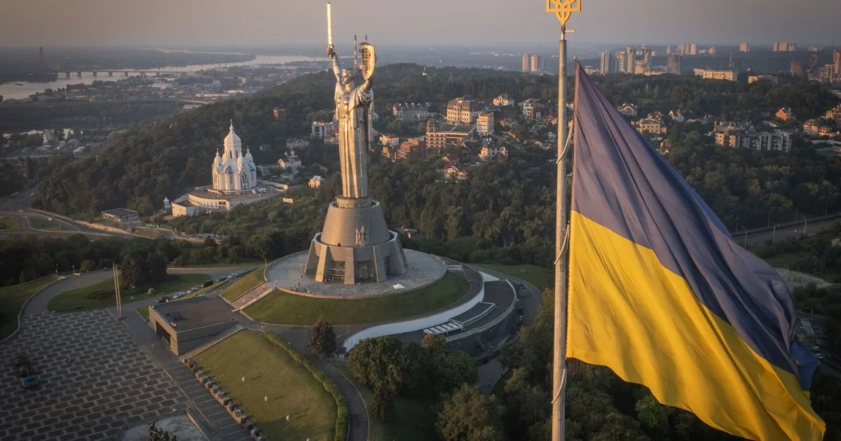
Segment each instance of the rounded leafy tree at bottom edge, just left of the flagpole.
[{"label": "rounded leafy tree at bottom edge, just left of the flagpole", "polygon": [[476,386],[463,385],[444,402],[436,428],[447,441],[501,440],[500,403]]}]

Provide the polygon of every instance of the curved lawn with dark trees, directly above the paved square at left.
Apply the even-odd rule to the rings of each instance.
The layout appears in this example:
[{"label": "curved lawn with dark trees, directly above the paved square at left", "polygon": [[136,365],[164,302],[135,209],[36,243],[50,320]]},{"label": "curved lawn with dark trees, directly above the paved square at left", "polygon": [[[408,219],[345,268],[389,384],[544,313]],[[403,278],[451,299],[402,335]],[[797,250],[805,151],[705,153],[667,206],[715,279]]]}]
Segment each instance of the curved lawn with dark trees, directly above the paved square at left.
[{"label": "curved lawn with dark trees, directly above the paved square at left", "polygon": [[[186,290],[190,286],[201,286],[210,276],[206,274],[176,274],[167,275],[167,280],[155,283],[150,286],[138,286],[135,289],[121,288],[123,302],[135,302],[149,297],[168,296],[176,291]],[[155,288],[155,293],[149,296],[146,292],[149,288]],[[114,306],[114,297],[97,299],[87,298],[88,294],[96,291],[113,290],[114,280],[107,280],[96,285],[65,291],[53,297],[47,308],[55,312],[74,312],[98,309],[100,307]],[[78,307],[77,307],[78,306]]]}]

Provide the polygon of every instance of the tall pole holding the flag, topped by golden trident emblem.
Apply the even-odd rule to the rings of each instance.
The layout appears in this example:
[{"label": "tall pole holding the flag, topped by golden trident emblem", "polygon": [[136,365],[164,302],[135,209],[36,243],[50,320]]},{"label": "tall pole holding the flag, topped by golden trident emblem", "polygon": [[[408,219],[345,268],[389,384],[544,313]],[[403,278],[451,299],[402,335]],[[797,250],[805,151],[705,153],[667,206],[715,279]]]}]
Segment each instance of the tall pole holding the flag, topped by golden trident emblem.
[{"label": "tall pole holding the flag, topped by golden trident emblem", "polygon": [[566,23],[574,12],[581,10],[581,0],[547,0],[547,13],[554,13],[561,22],[561,38],[558,41],[558,176],[555,197],[555,311],[552,369],[552,440],[563,441],[565,437],[564,414],[566,412],[567,380],[567,258],[569,237],[567,236],[569,195],[567,194],[567,27]]}]

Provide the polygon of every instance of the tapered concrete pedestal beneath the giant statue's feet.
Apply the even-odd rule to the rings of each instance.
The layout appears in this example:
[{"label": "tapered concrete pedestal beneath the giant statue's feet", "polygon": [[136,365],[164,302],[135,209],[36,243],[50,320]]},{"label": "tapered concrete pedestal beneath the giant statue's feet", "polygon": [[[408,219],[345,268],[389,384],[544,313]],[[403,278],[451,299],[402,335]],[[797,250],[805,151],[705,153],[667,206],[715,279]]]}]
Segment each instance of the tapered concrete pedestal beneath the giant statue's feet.
[{"label": "tapered concrete pedestal beneath the giant statue's feet", "polygon": [[399,235],[389,231],[379,202],[339,197],[327,208],[324,229],[309,244],[305,274],[315,281],[386,281],[404,274]]}]

